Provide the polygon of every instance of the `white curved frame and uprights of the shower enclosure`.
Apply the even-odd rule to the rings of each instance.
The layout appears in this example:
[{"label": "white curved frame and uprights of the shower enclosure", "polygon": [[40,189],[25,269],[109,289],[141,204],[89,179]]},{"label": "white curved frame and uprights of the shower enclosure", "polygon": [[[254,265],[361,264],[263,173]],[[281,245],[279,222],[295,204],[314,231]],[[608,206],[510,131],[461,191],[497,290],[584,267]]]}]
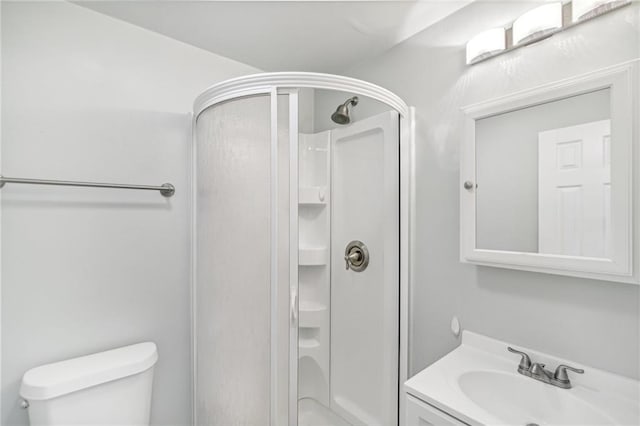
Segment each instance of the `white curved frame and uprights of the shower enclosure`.
[{"label": "white curved frame and uprights of the shower enclosure", "polygon": [[[400,300],[399,300],[399,357],[398,357],[398,421],[404,424],[405,401],[403,398],[403,384],[409,374],[409,296],[412,277],[413,239],[411,230],[415,221],[415,173],[414,173],[414,145],[415,145],[415,108],[409,107],[399,96],[375,84],[332,74],[307,72],[277,72],[253,74],[226,80],[205,90],[194,102],[192,117],[192,145],[191,145],[191,348],[192,348],[192,419],[197,424],[196,392],[197,392],[197,338],[196,338],[196,226],[197,226],[197,158],[196,158],[196,121],[200,113],[216,104],[248,96],[270,96],[271,118],[271,174],[270,174],[270,211],[271,211],[271,346],[278,342],[277,313],[278,313],[278,276],[277,276],[277,244],[278,244],[278,95],[288,95],[289,101],[289,425],[296,426],[297,416],[297,357],[298,357],[298,89],[324,89],[354,93],[382,102],[396,110],[400,116]],[[275,237],[274,237],[275,236]],[[293,249],[295,248],[295,250]],[[275,255],[274,255],[275,253]],[[271,357],[271,401],[270,425],[279,426],[276,418],[278,401],[278,368],[277,358]],[[296,362],[293,362],[295,360]],[[295,404],[291,401],[295,401]]]}]

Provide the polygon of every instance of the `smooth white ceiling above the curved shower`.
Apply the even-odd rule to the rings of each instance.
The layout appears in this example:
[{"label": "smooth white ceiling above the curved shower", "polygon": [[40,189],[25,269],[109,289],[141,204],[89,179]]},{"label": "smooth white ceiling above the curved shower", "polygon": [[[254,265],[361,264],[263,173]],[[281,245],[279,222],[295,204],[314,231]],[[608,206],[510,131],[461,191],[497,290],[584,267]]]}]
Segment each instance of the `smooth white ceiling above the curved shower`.
[{"label": "smooth white ceiling above the curved shower", "polygon": [[263,71],[340,72],[473,0],[76,1]]}]

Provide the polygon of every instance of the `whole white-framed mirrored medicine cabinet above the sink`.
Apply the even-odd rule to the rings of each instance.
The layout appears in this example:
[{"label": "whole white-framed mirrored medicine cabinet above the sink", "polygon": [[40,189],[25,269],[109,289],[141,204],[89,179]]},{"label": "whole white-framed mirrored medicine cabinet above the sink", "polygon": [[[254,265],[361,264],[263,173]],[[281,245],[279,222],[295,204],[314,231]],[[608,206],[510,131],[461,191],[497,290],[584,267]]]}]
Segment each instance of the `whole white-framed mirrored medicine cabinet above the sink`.
[{"label": "whole white-framed mirrored medicine cabinet above the sink", "polygon": [[638,281],[631,75],[627,65],[464,109],[462,261]]}]

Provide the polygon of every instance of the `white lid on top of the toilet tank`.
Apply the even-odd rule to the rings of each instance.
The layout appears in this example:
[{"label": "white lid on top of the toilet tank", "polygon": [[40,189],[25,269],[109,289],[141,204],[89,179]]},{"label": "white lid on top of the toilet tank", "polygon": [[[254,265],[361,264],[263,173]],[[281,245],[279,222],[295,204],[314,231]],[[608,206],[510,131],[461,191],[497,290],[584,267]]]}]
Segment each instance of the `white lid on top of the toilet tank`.
[{"label": "white lid on top of the toilet tank", "polygon": [[22,377],[20,396],[46,400],[141,373],[158,360],[153,342],[138,343],[32,368]]}]

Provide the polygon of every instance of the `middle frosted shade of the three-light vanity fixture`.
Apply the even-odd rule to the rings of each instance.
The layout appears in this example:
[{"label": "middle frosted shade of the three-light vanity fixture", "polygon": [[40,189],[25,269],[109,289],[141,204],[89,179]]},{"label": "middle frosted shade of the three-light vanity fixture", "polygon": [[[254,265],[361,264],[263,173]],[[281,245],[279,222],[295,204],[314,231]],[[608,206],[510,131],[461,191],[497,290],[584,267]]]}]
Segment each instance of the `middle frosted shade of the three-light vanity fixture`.
[{"label": "middle frosted shade of the three-light vanity fixture", "polygon": [[561,28],[562,3],[538,6],[513,23],[513,44],[528,44],[548,37]]}]

